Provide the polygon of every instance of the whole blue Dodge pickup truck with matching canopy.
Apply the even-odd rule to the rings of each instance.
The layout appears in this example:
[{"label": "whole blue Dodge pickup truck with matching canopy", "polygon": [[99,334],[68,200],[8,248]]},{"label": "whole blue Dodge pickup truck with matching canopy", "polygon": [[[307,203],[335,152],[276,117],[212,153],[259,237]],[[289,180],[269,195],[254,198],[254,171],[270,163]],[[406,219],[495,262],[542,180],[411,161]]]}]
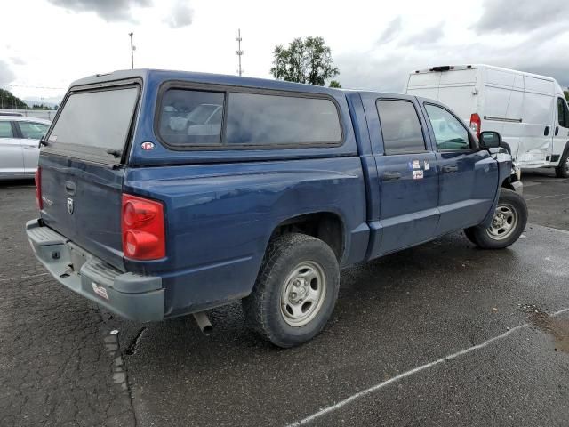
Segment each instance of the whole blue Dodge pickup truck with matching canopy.
[{"label": "whole blue Dodge pickup truck with matching canopy", "polygon": [[26,229],[61,284],[202,328],[241,300],[281,347],[322,330],[341,268],[456,230],[503,248],[527,220],[500,135],[414,96],[117,71],[73,83],[41,144]]}]

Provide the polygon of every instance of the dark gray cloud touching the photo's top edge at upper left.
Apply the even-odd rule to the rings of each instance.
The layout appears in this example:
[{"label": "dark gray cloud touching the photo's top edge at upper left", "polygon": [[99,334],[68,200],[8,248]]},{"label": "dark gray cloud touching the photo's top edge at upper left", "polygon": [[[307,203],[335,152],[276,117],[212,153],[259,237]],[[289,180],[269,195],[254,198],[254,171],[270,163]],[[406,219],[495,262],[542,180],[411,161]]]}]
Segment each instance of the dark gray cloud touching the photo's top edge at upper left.
[{"label": "dark gray cloud touching the photo's top edge at upper left", "polygon": [[130,14],[134,6],[149,6],[152,0],[48,0],[50,3],[73,12],[95,12],[103,20],[132,21]]}]

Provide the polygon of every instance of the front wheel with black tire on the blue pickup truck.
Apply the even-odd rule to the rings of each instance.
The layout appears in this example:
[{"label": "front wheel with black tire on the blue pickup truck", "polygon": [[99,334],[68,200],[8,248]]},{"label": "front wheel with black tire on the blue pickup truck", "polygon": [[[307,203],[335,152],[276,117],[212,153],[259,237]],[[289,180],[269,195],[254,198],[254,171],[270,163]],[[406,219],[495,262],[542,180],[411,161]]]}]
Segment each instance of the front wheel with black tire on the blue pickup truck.
[{"label": "front wheel with black tire on the blue pickup truck", "polygon": [[[492,227],[471,227],[464,234],[482,249],[503,249],[515,243],[525,230],[527,205],[524,197],[511,189],[502,188]],[[501,215],[498,217],[497,215]],[[509,220],[511,219],[511,222]],[[496,222],[494,222],[494,220]],[[501,230],[503,234],[500,234]]]}]

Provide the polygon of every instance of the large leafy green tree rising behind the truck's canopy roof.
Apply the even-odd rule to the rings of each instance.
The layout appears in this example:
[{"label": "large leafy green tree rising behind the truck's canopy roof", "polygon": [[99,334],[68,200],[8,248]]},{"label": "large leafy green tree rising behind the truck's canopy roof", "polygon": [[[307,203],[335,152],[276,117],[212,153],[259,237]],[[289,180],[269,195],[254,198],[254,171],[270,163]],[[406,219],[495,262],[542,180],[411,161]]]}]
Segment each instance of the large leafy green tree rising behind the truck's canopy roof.
[{"label": "large leafy green tree rising behind the truck's canopy roof", "polygon": [[295,38],[288,47],[279,44],[273,56],[271,74],[287,82],[324,86],[326,80],[340,74],[322,37]]}]

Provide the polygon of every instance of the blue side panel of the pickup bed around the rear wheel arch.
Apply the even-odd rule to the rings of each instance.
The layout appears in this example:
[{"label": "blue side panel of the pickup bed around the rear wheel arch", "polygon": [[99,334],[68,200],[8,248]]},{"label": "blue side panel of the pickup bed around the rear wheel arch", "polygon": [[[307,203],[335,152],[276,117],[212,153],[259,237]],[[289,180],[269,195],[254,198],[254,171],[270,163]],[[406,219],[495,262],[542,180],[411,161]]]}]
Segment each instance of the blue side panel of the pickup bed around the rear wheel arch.
[{"label": "blue side panel of the pickup bed around the rear wheel arch", "polygon": [[250,294],[271,234],[301,214],[337,215],[344,260],[365,256],[369,229],[357,156],[136,168],[127,171],[124,191],[164,202],[167,258],[125,264],[163,278],[165,317]]}]

